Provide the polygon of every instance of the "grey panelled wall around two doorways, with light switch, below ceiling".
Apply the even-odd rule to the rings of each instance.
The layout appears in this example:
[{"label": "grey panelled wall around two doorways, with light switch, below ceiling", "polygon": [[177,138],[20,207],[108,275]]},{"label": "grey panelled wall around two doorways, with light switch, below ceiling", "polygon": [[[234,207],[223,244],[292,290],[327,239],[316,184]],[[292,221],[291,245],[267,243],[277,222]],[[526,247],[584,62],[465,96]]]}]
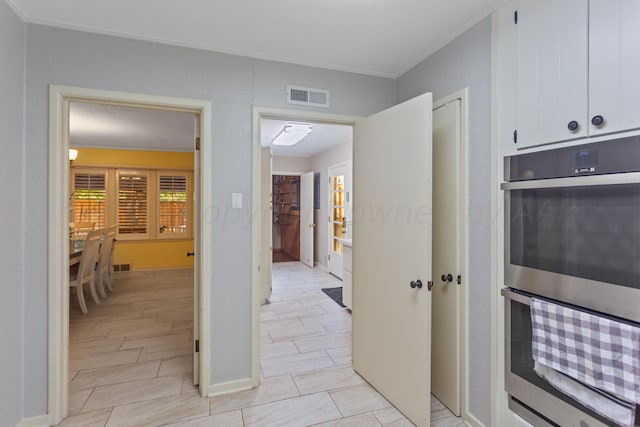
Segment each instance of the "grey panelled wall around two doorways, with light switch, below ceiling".
[{"label": "grey panelled wall around two doorways, with light switch, below ceiling", "polygon": [[[390,79],[196,49],[27,25],[25,252],[26,416],[46,413],[47,384],[47,98],[48,85],[210,99],[213,131],[211,215],[214,250],[212,295],[212,383],[250,376],[250,203],[238,216],[231,193],[251,200],[253,105],[287,108],[287,84],[331,91],[329,113],[367,116],[395,102]],[[13,83],[15,79],[12,80]],[[19,87],[19,85],[17,84]],[[304,107],[300,107],[305,109]],[[327,110],[322,109],[323,112]],[[11,160],[14,162],[13,160]],[[12,242],[13,248],[13,242]],[[33,398],[31,398],[33,396]],[[25,405],[26,406],[26,405]]]}]

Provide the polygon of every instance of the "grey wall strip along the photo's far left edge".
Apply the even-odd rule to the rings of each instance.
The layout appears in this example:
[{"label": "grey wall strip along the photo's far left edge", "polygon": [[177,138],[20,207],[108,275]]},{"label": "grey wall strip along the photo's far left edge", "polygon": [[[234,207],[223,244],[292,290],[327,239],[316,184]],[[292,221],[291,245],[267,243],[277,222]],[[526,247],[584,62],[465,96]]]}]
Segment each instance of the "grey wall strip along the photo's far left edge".
[{"label": "grey wall strip along the photo's far left edge", "polygon": [[[15,426],[24,401],[24,24],[0,2],[0,425]],[[46,199],[45,199],[46,201]],[[32,230],[27,230],[31,233]],[[46,345],[46,339],[45,339]],[[42,388],[42,387],[41,387]],[[42,388],[45,393],[46,388]]]}]

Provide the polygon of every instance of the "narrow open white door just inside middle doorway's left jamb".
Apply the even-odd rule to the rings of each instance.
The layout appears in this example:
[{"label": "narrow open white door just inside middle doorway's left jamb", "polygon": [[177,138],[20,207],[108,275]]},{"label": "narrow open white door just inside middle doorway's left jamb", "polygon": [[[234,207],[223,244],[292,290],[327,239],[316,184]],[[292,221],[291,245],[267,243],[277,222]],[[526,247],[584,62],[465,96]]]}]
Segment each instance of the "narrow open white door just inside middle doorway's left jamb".
[{"label": "narrow open white door just inside middle doorway's left jamb", "polygon": [[271,297],[273,262],[273,185],[271,179],[271,148],[260,149],[260,300]]}]

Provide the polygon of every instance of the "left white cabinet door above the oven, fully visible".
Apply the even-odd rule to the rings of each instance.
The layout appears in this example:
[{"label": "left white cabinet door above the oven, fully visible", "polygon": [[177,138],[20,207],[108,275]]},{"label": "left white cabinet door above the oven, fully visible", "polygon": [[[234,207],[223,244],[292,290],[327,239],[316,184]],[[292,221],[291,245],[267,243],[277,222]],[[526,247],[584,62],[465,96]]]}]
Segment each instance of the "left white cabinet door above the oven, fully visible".
[{"label": "left white cabinet door above the oven, fully visible", "polygon": [[520,0],[517,10],[517,148],[586,137],[588,1]]}]

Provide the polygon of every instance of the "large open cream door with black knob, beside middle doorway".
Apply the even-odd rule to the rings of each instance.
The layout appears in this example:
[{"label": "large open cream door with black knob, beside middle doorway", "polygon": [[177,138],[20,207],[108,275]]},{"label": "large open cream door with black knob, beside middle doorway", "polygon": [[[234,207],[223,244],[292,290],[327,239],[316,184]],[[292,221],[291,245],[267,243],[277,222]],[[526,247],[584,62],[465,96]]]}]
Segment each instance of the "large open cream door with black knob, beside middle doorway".
[{"label": "large open cream door with black knob, beside middle doorway", "polygon": [[361,120],[353,147],[353,367],[418,427],[430,421],[431,110],[427,93]]}]

